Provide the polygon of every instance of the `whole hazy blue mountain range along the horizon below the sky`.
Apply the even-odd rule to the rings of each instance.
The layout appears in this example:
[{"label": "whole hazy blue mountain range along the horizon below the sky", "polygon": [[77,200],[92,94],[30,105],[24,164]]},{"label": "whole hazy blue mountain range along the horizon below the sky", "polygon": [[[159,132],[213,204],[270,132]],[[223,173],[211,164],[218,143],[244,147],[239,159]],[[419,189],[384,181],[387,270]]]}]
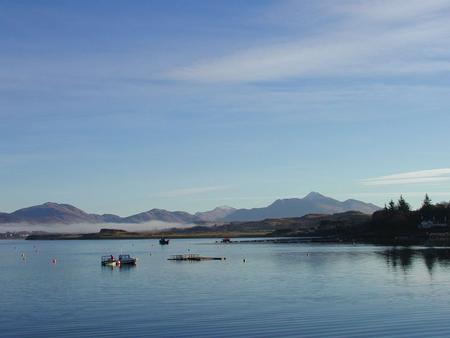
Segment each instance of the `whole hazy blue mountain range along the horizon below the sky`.
[{"label": "whole hazy blue mountain range along the horizon below the sky", "polygon": [[120,217],[114,214],[90,214],[69,204],[47,202],[19,209],[12,213],[0,213],[0,224],[139,224],[150,221],[207,224],[251,222],[268,218],[292,218],[302,217],[307,214],[335,214],[347,211],[356,211],[370,215],[379,209],[379,207],[371,203],[353,199],[341,202],[317,192],[311,192],[303,198],[279,199],[263,208],[235,209],[224,206],[195,214],[184,211],[151,209],[127,217]]}]

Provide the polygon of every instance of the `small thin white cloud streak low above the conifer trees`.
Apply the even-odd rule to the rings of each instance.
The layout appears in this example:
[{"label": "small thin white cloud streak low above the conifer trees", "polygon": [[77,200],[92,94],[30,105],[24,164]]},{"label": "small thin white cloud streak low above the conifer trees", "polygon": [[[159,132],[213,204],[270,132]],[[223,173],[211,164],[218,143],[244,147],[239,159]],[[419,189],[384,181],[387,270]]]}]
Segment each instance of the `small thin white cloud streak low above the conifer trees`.
[{"label": "small thin white cloud streak low above the conifer trees", "polygon": [[410,171],[399,174],[367,178],[362,180],[364,185],[395,185],[432,183],[450,180],[450,168]]}]

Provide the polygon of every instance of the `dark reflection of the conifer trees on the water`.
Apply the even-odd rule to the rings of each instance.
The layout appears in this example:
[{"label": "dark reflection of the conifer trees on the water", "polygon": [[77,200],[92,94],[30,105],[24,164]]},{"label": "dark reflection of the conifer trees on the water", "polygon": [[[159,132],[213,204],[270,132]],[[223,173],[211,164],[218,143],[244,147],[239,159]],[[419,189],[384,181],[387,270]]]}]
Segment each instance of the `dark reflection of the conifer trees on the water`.
[{"label": "dark reflection of the conifer trees on the water", "polygon": [[436,264],[441,267],[450,267],[449,248],[391,248],[381,252],[386,264],[396,269],[400,267],[408,272],[415,262],[423,261],[430,275]]}]

